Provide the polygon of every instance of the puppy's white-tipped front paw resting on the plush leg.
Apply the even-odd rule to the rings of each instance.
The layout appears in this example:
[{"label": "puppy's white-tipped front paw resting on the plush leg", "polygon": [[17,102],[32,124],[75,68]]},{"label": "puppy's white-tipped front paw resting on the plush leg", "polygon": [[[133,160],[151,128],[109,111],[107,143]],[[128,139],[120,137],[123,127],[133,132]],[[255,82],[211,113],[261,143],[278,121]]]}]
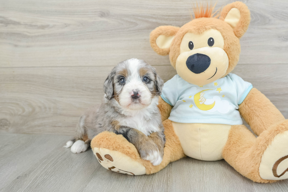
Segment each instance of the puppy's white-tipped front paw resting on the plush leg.
[{"label": "puppy's white-tipped front paw resting on the plush leg", "polygon": [[160,154],[157,145],[153,141],[143,143],[138,151],[142,159],[150,161],[154,166],[162,162],[163,155]]}]

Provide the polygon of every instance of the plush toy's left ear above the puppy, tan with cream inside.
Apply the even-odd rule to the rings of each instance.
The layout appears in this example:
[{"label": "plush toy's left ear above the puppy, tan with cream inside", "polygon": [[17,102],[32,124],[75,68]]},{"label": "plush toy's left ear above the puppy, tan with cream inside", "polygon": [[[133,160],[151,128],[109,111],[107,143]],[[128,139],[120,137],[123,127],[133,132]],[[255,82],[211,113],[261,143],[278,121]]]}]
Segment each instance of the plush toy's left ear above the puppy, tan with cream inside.
[{"label": "plush toy's left ear above the puppy, tan with cream inside", "polygon": [[175,26],[160,26],[150,33],[150,44],[159,55],[168,55],[170,45],[180,28]]}]

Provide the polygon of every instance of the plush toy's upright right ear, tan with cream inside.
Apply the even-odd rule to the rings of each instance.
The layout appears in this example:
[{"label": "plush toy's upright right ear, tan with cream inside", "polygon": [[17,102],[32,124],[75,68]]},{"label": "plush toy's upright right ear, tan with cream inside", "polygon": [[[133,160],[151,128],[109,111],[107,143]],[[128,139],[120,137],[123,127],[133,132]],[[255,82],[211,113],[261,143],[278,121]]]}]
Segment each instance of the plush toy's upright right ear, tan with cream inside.
[{"label": "plush toy's upright right ear, tan with cream inside", "polygon": [[222,9],[219,19],[229,24],[233,28],[235,36],[240,39],[247,31],[251,17],[248,7],[240,1],[236,1]]}]

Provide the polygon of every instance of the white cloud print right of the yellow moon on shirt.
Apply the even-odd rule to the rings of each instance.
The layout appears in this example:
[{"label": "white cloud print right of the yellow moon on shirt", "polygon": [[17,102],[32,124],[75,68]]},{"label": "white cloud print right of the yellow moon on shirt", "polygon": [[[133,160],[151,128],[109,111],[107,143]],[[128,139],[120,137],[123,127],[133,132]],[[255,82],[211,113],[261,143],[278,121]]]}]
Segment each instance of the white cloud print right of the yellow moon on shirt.
[{"label": "white cloud print right of the yellow moon on shirt", "polygon": [[209,112],[215,112],[218,111],[219,113],[228,113],[229,110],[231,110],[233,108],[232,105],[230,105],[230,103],[226,100],[221,100],[221,98],[219,96],[214,96],[212,99],[206,99],[206,101],[204,102],[205,105],[210,105],[212,103],[214,103],[215,101],[215,106],[208,110]]}]

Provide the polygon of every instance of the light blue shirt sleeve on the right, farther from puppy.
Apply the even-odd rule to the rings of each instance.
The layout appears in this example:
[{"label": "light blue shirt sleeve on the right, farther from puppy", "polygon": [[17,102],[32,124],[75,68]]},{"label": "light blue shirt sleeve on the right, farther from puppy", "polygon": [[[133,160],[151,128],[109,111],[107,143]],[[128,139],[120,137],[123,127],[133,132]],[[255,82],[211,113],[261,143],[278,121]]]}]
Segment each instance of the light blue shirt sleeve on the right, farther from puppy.
[{"label": "light blue shirt sleeve on the right, farther from puppy", "polygon": [[228,74],[228,76],[230,76],[233,84],[235,85],[237,92],[237,105],[240,105],[249,94],[253,86],[251,83],[244,81],[241,77],[235,74]]}]

